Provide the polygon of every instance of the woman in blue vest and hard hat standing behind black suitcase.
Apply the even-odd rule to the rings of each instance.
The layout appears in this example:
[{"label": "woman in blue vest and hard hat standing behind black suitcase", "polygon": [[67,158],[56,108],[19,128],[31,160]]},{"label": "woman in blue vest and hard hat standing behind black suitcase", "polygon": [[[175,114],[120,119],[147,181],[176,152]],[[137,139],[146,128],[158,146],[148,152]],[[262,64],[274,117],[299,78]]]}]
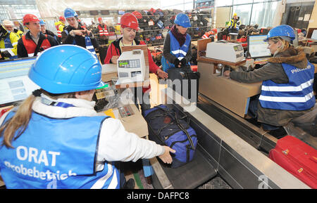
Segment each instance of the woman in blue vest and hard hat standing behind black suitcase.
[{"label": "woman in blue vest and hard hat standing behind black suitcase", "polygon": [[164,41],[161,59],[164,72],[168,72],[168,69],[173,67],[187,65],[192,58],[191,37],[187,34],[188,27],[191,27],[188,16],[178,13],[174,23]]}]

